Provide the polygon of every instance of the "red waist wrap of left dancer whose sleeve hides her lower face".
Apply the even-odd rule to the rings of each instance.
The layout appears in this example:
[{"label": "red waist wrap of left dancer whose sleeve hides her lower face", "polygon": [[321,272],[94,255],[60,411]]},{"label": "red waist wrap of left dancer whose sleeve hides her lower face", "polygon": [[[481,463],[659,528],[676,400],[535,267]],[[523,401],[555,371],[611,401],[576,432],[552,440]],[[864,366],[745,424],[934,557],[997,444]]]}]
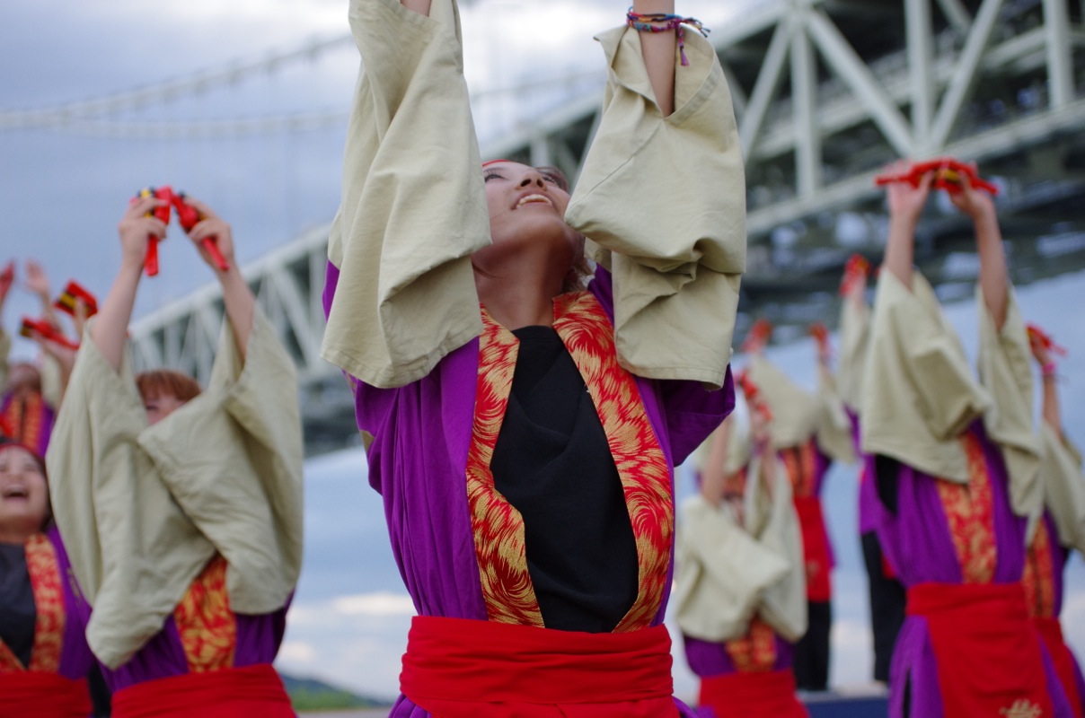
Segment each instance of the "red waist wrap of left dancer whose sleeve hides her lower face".
[{"label": "red waist wrap of left dancer whose sleeve hides her lower face", "polygon": [[282,679],[263,663],[137,683],[113,694],[113,718],[294,718]]}]

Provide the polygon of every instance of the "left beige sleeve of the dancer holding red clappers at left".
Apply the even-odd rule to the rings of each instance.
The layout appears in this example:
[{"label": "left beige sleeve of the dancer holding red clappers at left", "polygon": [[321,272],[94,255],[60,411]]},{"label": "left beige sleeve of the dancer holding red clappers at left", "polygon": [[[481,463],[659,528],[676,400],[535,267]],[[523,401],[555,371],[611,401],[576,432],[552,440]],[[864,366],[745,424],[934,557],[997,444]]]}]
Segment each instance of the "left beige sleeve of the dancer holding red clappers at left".
[{"label": "left beige sleeve of the dancer holding red clappers at left", "polygon": [[91,336],[79,349],[46,461],[53,515],[93,606],[87,642],[116,668],[162,630],[215,547],[139,447],[146,413],[127,358],[117,373]]}]

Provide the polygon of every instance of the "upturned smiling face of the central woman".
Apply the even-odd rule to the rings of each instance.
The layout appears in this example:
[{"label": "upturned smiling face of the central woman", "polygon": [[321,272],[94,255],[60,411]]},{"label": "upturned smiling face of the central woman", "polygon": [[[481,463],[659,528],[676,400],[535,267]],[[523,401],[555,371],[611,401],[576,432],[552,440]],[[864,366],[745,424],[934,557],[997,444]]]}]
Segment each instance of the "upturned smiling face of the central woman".
[{"label": "upturned smiling face of the central woman", "polygon": [[565,223],[569,183],[560,171],[502,161],[486,165],[483,179],[493,246],[476,255],[494,259],[512,246],[542,246],[559,262],[577,260],[583,238]]}]

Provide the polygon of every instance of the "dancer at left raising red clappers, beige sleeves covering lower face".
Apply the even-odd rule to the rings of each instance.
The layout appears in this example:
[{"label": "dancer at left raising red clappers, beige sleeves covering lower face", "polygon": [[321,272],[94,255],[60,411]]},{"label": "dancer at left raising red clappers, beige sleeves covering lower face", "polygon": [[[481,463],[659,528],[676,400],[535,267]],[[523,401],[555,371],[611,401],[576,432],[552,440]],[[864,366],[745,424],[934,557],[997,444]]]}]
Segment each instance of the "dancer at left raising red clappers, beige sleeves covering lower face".
[{"label": "dancer at left raising red clappers, beige sleeves covering lower face", "polygon": [[132,376],[128,322],[148,238],[138,200],[122,264],[87,329],[48,462],[76,550],[87,639],[117,718],[293,716],[271,668],[302,556],[302,436],[294,367],[238,269],[230,227],[204,204],[190,239],[229,269],[207,390],[175,372]]}]

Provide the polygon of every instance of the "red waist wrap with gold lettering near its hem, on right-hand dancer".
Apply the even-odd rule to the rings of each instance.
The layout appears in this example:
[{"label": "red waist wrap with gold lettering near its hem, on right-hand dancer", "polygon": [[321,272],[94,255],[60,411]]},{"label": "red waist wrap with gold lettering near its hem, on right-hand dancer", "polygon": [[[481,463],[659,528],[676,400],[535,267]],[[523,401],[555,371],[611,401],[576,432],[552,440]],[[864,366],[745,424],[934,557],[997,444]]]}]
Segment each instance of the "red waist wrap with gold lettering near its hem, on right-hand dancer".
[{"label": "red waist wrap with gold lettering near its hem, on right-hand dancer", "polygon": [[1021,584],[919,584],[907,613],[927,619],[946,716],[1052,715]]}]

